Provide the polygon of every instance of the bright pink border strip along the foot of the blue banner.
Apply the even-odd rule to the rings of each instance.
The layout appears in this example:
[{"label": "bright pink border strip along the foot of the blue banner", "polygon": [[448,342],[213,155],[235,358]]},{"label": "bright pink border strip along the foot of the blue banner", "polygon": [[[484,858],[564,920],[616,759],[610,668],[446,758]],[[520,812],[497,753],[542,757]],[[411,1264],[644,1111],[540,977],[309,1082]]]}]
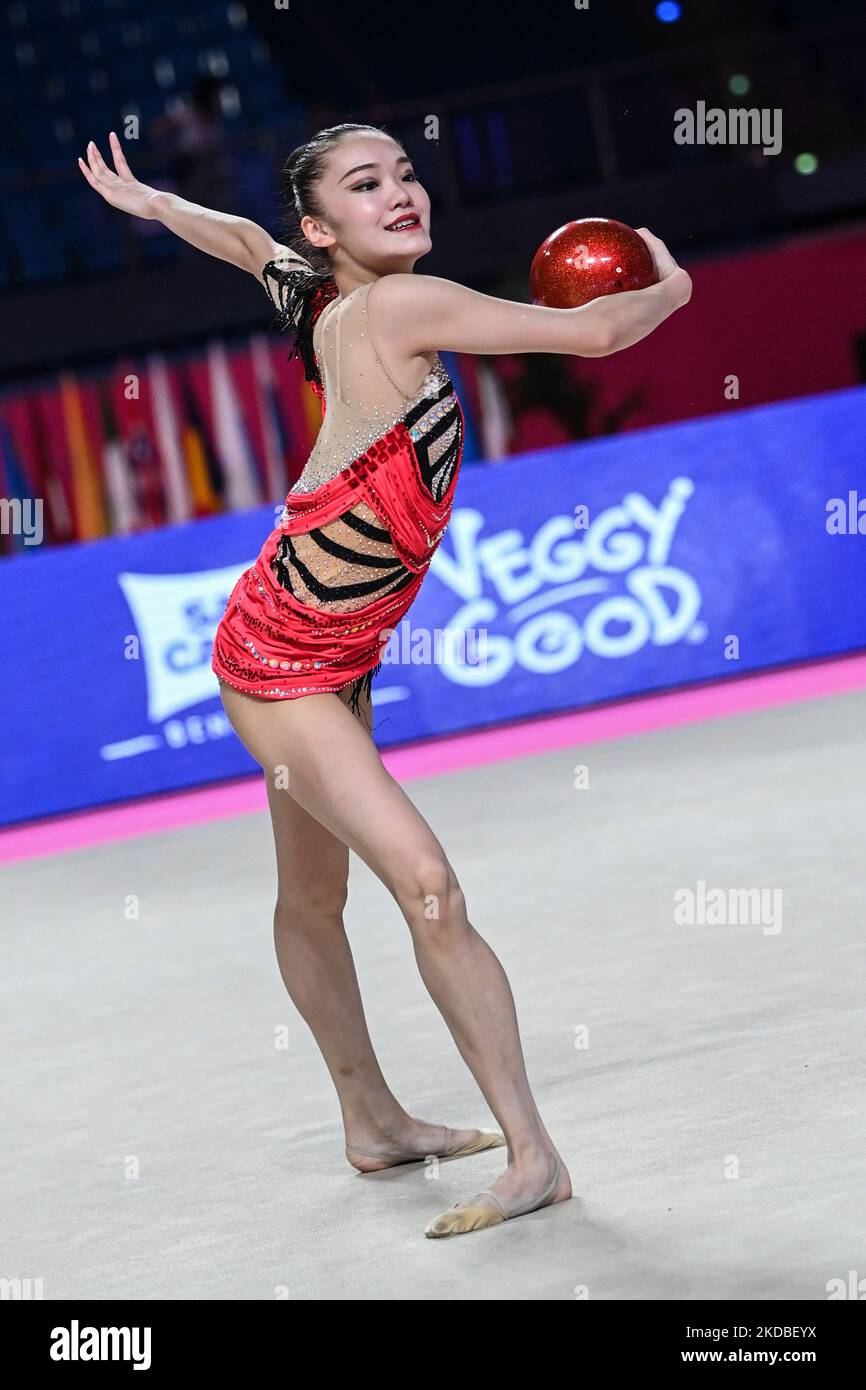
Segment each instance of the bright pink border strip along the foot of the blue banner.
[{"label": "bright pink border strip along the foot of the blue banner", "polygon": [[[656,728],[745,714],[859,689],[866,689],[866,656],[847,656],[385,749],[382,762],[398,781],[410,781],[413,777],[435,777],[461,767],[531,758],[556,748],[627,738]],[[202,791],[170,792],[125,806],[85,810],[0,831],[0,863],[68,853],[115,840],[264,810],[267,798],[261,777],[245,777]]]}]

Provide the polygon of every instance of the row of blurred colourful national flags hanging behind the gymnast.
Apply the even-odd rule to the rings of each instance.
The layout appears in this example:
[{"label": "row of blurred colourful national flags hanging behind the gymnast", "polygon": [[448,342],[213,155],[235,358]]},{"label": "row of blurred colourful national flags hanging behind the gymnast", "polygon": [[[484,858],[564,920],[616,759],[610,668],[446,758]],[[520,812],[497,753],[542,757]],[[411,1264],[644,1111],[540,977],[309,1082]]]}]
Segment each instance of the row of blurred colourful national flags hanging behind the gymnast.
[{"label": "row of blurred colourful national flags hanging behind the gymnast", "polygon": [[[500,456],[500,386],[478,359],[448,356],[466,421],[464,463]],[[46,545],[281,502],[321,414],[300,363],[264,335],[232,352],[213,341],[185,360],[153,353],[86,377],[65,370],[0,396],[0,498],[22,506],[42,499]],[[14,525],[1,528],[0,553],[31,548]]]}]

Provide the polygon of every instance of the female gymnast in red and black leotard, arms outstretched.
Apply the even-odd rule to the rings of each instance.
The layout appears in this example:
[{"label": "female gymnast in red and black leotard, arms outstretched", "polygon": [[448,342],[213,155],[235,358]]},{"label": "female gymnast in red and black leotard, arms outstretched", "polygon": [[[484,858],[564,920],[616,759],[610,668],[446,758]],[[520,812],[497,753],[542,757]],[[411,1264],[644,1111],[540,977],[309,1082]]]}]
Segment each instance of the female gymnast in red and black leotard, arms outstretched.
[{"label": "female gymnast in red and black leotard, arms outstretched", "polygon": [[[507,1144],[505,1172],[431,1220],[432,1237],[563,1202],[569,1170],[530,1090],[507,977],[468,920],[443,847],[382,764],[370,687],[455,493],[463,414],[436,349],[603,357],[685,304],[689,277],[645,228],[659,282],[580,309],[416,275],[431,249],[430,197],[381,126],[331,126],[289,156],[296,225],[281,242],[247,218],[138,182],[114,132],[110,143],[114,170],[93,142],[78,161],[90,188],[256,275],[322,407],[279,523],[232,591],[213,669],[228,719],[265,776],[277,958],[336,1088],[346,1156],[373,1172]],[[388,1087],[343,927],[350,849],[395,898],[421,979],[502,1133],[416,1119]]]}]

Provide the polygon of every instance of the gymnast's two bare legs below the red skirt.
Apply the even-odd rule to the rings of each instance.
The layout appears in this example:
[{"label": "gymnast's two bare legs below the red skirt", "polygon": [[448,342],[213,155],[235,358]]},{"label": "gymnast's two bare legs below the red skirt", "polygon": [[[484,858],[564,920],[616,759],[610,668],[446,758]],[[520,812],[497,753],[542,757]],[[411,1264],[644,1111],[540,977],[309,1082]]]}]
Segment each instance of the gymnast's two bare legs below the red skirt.
[{"label": "gymnast's two bare legs below the red skirt", "polygon": [[[418,1156],[442,1141],[436,1126],[399,1105],[370,1042],[342,926],[353,849],[396,899],[421,979],[506,1136],[507,1168],[492,1190],[510,1207],[532,1201],[553,1179],[559,1154],[530,1091],[512,990],[467,917],[443,847],[379,758],[370,703],[361,723],[345,692],[267,701],[224,682],[220,689],[235,733],[265,773],[279,967],[328,1065],[346,1141],[373,1148],[399,1137],[417,1143]],[[570,1195],[563,1165],[553,1201]]]}]

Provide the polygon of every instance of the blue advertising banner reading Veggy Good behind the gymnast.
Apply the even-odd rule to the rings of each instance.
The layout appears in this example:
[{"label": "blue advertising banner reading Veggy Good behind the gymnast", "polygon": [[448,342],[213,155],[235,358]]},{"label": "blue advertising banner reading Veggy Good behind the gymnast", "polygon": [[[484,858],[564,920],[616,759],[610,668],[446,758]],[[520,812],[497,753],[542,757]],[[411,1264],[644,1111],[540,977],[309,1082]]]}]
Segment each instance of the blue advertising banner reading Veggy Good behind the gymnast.
[{"label": "blue advertising banner reading Veggy Good behind the gymnast", "polygon": [[[464,467],[377,742],[865,648],[865,439],[856,388]],[[254,770],[210,656],[281,507],[0,564],[0,824]]]}]

